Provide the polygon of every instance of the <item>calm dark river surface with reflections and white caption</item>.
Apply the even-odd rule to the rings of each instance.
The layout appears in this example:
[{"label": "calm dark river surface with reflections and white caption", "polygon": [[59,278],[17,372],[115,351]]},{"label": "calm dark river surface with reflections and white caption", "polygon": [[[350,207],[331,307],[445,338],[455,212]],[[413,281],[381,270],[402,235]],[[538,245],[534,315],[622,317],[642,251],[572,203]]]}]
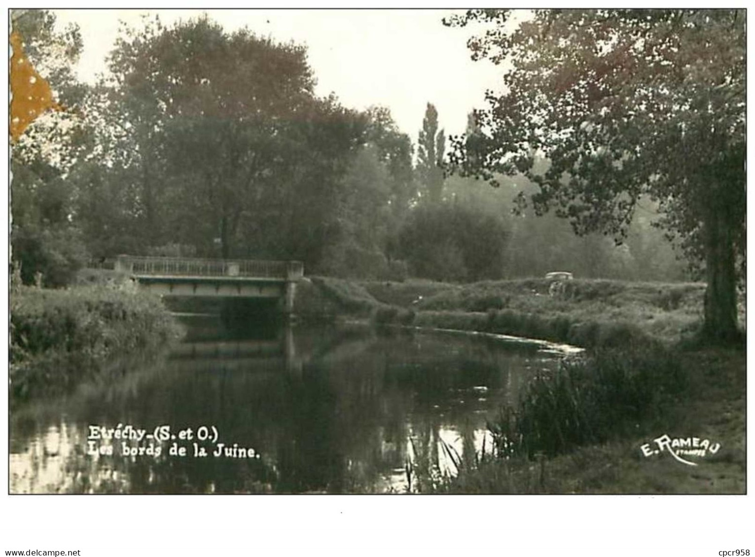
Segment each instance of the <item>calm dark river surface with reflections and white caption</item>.
[{"label": "calm dark river surface with reflections and white caption", "polygon": [[559,358],[448,333],[184,321],[153,363],[15,409],[11,492],[405,492],[407,463],[453,474],[448,446],[489,448],[486,421]]}]

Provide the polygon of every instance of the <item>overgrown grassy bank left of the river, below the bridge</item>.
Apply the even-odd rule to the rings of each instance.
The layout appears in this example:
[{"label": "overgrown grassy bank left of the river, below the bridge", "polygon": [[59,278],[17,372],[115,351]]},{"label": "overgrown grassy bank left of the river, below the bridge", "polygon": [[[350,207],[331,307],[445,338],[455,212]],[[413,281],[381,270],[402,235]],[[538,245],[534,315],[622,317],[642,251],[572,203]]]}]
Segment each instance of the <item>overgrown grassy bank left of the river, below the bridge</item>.
[{"label": "overgrown grassy bank left of the river, below the bridge", "polygon": [[14,400],[65,392],[112,357],[144,353],[179,334],[159,298],[107,286],[11,292]]}]

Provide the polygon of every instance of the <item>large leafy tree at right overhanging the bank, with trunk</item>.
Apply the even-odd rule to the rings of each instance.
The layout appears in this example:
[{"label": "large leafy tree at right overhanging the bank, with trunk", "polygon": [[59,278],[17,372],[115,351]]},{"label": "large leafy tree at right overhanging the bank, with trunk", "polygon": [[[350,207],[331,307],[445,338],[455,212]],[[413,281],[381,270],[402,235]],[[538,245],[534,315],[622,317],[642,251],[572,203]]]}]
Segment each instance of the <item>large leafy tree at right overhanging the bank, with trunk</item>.
[{"label": "large leafy tree at right overhanging the bank, with trunk", "polygon": [[[578,234],[619,240],[640,196],[704,262],[704,333],[735,338],[737,255],[744,259],[744,11],[469,11],[473,59],[504,70],[504,93],[476,112],[482,134],[455,138],[462,173],[522,172]],[[470,156],[473,155],[473,156]],[[533,166],[536,156],[550,161]],[[522,204],[525,199],[520,199]]]}]

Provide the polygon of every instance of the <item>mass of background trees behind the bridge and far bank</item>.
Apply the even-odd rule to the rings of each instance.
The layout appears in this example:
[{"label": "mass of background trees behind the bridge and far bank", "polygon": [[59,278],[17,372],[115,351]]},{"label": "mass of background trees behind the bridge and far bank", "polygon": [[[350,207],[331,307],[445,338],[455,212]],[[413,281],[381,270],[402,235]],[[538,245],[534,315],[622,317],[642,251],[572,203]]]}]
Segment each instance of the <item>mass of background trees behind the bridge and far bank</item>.
[{"label": "mass of background trees behind the bridge and far bank", "polygon": [[[304,47],[226,32],[207,17],[173,26],[146,18],[123,26],[109,75],[88,86],[72,71],[75,27],[59,32],[54,16],[35,10],[16,23],[65,109],[37,118],[11,149],[13,258],[26,283],[42,273],[47,286],[63,286],[90,254],[119,253],[301,259],[310,273],[399,280],[408,268],[439,280],[554,269],[678,276],[669,246],[639,219],[620,249],[571,237],[555,217],[510,216],[514,194],[537,197],[545,178],[499,177],[505,191],[446,179],[431,104],[414,167],[411,139],[387,108],[356,112],[315,95]],[[491,130],[483,112],[470,118],[466,148],[455,152],[469,173],[501,170],[485,151]],[[503,162],[516,168],[530,152],[519,155]],[[529,176],[558,161],[535,161]],[[673,203],[656,197],[645,203]]]}]

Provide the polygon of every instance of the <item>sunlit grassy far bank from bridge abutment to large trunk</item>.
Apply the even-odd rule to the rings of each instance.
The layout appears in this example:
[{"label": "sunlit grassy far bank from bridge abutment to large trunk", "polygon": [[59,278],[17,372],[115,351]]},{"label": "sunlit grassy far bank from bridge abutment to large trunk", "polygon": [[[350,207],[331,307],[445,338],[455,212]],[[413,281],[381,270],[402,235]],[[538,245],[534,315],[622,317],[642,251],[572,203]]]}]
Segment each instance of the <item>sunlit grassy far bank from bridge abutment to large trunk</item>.
[{"label": "sunlit grassy far bank from bridge abutment to large trunk", "polygon": [[[692,340],[702,319],[703,283],[573,280],[555,292],[551,284],[544,279],[459,285],[307,277],[297,284],[294,314],[310,322],[369,320],[376,325],[486,332],[585,348],[677,344]],[[173,311],[220,311],[212,299],[168,301]]]}]

